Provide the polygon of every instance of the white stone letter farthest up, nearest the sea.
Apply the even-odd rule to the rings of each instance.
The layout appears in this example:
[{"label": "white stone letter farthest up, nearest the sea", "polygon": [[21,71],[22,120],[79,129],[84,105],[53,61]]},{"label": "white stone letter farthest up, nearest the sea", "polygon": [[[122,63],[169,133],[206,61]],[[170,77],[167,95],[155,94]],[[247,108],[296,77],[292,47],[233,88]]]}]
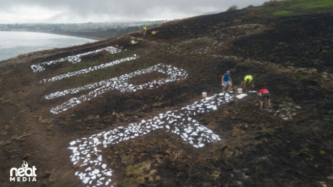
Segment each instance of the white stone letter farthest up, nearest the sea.
[{"label": "white stone letter farthest up, nearest the sea", "polygon": [[57,64],[57,63],[60,63],[60,62],[66,61],[66,60],[70,61],[73,64],[76,64],[76,63],[79,63],[81,61],[82,56],[86,56],[86,55],[93,54],[93,53],[99,53],[101,51],[108,51],[111,54],[115,54],[115,53],[119,53],[121,50],[110,46],[110,47],[107,47],[107,48],[102,48],[102,49],[98,49],[98,50],[95,50],[95,51],[90,51],[90,52],[87,52],[87,53],[81,53],[81,54],[77,54],[77,55],[74,55],[74,56],[68,56],[66,58],[60,58],[60,59],[57,59],[57,60],[51,60],[51,61],[46,61],[44,63],[40,63],[40,64],[37,64],[37,65],[32,65],[31,69],[34,73],[38,72],[38,71],[44,71],[45,70],[44,66],[49,66],[51,64]]}]

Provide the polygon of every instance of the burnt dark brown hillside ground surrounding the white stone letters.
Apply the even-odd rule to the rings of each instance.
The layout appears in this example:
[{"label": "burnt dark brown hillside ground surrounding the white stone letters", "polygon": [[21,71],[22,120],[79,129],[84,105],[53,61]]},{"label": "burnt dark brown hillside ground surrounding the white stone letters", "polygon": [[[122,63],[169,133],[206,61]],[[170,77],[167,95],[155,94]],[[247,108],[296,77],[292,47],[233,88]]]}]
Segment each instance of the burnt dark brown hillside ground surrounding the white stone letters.
[{"label": "burnt dark brown hillside ground surrounding the white stone letters", "polygon": [[[246,9],[166,23],[150,29],[159,31],[152,37],[137,32],[2,61],[1,186],[88,186],[90,181],[97,185],[97,179],[109,186],[332,186],[332,18],[326,9],[289,16],[260,16]],[[132,45],[131,40],[138,43]],[[76,64],[76,58],[67,58],[43,65],[43,71],[31,69],[109,46],[121,52],[101,50],[79,56],[81,61]],[[137,58],[100,68],[134,56]],[[172,75],[162,72],[167,72],[165,67],[130,77],[131,72],[160,63],[186,73],[161,85],[156,82]],[[94,66],[100,69],[38,83]],[[203,91],[209,97],[221,93],[226,70],[231,70],[234,82],[232,100],[216,96],[216,103],[221,100],[212,103],[216,110],[207,105],[202,113],[182,112],[183,107],[200,101]],[[244,90],[246,97],[235,97],[247,74],[254,77],[256,91],[270,91],[269,108],[265,105],[261,111],[259,96],[248,92],[249,88]],[[119,78],[129,90],[122,92],[121,85],[109,90],[82,89],[122,75],[129,75]],[[135,87],[146,82],[151,84],[142,90]],[[81,90],[54,99],[44,97],[74,88]],[[50,112],[82,94],[89,99],[81,98],[81,103],[57,114]],[[147,134],[137,132],[136,136],[131,131],[133,137],[120,141],[122,128],[131,127],[130,123],[141,128],[142,120],[160,114],[166,119],[171,115],[168,111],[176,110],[196,121],[194,126],[189,122],[191,127],[200,129],[195,126],[198,123],[220,140],[207,137],[196,148],[189,137],[173,132],[173,127],[168,131],[163,124],[161,129],[145,131]],[[102,143],[98,134],[109,131],[119,140]],[[93,135],[101,139],[94,140]],[[88,150],[91,160],[97,162],[81,166],[85,159],[76,162],[74,147],[89,137],[82,150]],[[89,142],[93,147],[87,148]],[[98,161],[100,156],[102,161]],[[19,168],[22,160],[37,168],[37,182],[9,181],[10,169]],[[82,176],[84,173],[87,175]],[[107,178],[98,176],[102,173]]]}]

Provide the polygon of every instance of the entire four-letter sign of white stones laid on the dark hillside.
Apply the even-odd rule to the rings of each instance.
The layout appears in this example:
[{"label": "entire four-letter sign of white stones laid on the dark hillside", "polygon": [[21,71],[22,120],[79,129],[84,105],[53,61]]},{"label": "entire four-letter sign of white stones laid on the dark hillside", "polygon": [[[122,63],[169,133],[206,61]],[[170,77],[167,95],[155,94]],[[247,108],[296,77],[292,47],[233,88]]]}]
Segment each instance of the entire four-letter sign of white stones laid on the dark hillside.
[{"label": "entire four-letter sign of white stones laid on the dark hillside", "polygon": [[[120,50],[108,47],[100,50],[78,54],[75,56],[69,56],[67,58],[61,58],[59,60],[52,60],[38,65],[31,66],[34,72],[44,71],[45,65],[55,64],[60,61],[69,60],[72,63],[80,62],[80,56],[97,53],[101,50],[107,50],[111,53],[120,52]],[[115,60],[111,63],[98,65],[95,67],[82,69],[76,72],[70,72],[63,75],[55,76],[50,79],[44,79],[39,81],[40,84],[43,82],[61,80],[63,78],[88,73],[101,68],[117,65],[123,61],[129,61],[136,59],[138,56],[122,58]],[[137,75],[151,73],[157,71],[168,75],[166,79],[155,80],[146,84],[134,86],[127,84],[129,78]],[[53,114],[58,114],[62,111],[66,111],[72,107],[79,105],[82,102],[90,100],[97,95],[105,93],[108,90],[119,90],[120,92],[136,92],[142,89],[152,89],[158,87],[167,82],[173,82],[181,79],[185,79],[187,73],[184,70],[179,70],[175,67],[171,67],[164,64],[158,64],[150,68],[138,70],[129,74],[124,74],[119,77],[114,77],[107,80],[88,84],[83,87],[72,88],[64,91],[58,91],[45,95],[46,99],[54,99],[67,94],[74,94],[88,89],[95,89],[88,94],[81,95],[78,98],[72,98],[69,101],[54,107],[51,109]],[[246,96],[245,94],[238,95],[239,98]],[[210,110],[217,110],[217,107],[233,100],[233,96],[229,94],[215,94],[212,97],[206,97],[201,101],[196,101],[191,105],[183,107],[179,110],[168,111],[161,113],[151,119],[142,119],[140,122],[130,123],[127,127],[118,127],[108,132],[104,131],[99,134],[94,134],[88,138],[80,138],[70,142],[68,149],[72,150],[73,154],[70,156],[71,161],[74,165],[79,167],[75,175],[82,180],[85,185],[88,186],[100,186],[107,185],[112,186],[112,169],[108,168],[108,165],[103,161],[101,156],[101,149],[107,148],[110,145],[127,141],[135,137],[146,135],[157,129],[165,129],[166,132],[171,132],[179,135],[184,141],[192,144],[195,148],[202,148],[206,143],[217,142],[221,140],[218,135],[214,134],[212,130],[199,124],[194,116],[199,113],[209,112]]]}]

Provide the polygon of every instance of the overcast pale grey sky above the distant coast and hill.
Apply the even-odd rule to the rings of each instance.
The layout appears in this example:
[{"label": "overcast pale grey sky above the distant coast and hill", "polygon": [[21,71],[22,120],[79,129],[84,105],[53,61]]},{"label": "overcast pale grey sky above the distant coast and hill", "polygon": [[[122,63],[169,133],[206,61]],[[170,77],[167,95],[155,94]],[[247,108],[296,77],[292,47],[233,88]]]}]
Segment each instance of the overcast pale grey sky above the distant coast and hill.
[{"label": "overcast pale grey sky above the distant coast and hill", "polygon": [[178,19],[268,0],[0,0],[0,24]]}]

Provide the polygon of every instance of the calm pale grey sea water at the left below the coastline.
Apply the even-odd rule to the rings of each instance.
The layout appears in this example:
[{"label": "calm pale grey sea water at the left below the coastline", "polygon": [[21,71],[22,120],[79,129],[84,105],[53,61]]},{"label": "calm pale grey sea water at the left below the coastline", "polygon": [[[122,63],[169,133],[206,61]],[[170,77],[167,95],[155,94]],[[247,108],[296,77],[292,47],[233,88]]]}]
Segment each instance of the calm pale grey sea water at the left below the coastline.
[{"label": "calm pale grey sea water at the left below the coastline", "polygon": [[0,31],[0,61],[19,54],[65,48],[97,40],[37,32]]}]

